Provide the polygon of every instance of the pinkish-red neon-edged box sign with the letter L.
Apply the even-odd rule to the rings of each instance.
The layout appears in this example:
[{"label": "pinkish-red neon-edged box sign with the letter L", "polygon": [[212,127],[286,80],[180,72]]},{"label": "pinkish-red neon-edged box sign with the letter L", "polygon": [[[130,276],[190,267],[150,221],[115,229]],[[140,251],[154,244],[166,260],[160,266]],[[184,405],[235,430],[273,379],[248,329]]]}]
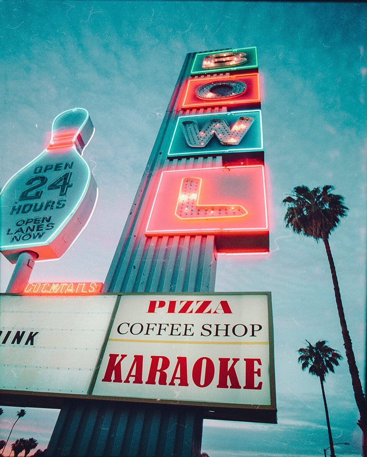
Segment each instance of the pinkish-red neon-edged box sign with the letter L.
[{"label": "pinkish-red neon-edged box sign with the letter L", "polygon": [[268,252],[264,166],[164,171],[145,234],[214,234],[218,252]]}]

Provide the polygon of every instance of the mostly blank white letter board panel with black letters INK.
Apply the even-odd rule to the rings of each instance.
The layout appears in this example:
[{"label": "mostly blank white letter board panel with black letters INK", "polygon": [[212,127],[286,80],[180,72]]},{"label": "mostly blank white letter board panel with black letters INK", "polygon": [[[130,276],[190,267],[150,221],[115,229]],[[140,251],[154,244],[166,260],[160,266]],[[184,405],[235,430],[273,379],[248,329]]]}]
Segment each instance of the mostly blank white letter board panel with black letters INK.
[{"label": "mostly blank white letter board panel with black letters INK", "polygon": [[116,298],[0,296],[0,388],[87,394]]}]

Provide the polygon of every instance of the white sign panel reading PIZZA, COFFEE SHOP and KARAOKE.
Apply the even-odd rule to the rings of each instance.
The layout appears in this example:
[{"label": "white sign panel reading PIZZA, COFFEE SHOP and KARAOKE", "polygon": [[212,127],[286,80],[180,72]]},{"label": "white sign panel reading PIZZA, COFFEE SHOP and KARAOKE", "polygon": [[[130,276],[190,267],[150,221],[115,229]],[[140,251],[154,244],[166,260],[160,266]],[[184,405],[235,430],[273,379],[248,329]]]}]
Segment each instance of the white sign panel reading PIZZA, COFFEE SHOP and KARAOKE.
[{"label": "white sign panel reading PIZZA, COFFEE SHOP and KARAOKE", "polygon": [[92,394],[275,410],[270,293],[122,296]]}]

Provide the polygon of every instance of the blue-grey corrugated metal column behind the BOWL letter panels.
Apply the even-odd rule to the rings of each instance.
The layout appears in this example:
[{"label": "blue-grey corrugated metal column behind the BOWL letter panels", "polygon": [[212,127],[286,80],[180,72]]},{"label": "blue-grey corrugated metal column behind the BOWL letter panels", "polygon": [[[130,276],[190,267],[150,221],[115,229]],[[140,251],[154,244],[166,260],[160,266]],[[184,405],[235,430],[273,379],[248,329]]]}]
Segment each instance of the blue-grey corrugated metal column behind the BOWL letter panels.
[{"label": "blue-grey corrugated metal column behind the BOWL letter panels", "polygon": [[[162,168],[221,165],[221,158],[166,158],[162,149],[175,121],[178,90],[189,75],[188,54],[108,272],[104,292],[213,292],[214,235],[146,237],[157,174]],[[211,112],[208,108],[205,112]],[[218,108],[215,109],[218,112]],[[167,141],[167,140],[165,140]],[[128,177],[126,177],[128,179]],[[188,406],[102,400],[66,400],[48,455],[197,456],[202,416]]]}]

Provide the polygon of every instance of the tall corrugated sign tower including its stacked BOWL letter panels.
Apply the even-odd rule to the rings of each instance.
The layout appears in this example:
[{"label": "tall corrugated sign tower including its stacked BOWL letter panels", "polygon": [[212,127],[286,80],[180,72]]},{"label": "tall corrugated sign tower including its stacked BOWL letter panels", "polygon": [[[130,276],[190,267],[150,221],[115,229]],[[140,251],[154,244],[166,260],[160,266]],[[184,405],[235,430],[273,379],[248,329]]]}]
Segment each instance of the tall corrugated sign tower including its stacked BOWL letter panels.
[{"label": "tall corrugated sign tower including its stacked BOWL letter panels", "polygon": [[[103,292],[214,292],[218,252],[268,252],[261,112],[252,109],[260,107],[254,69],[255,48],[187,54]],[[192,88],[190,100],[188,81],[202,83]],[[185,103],[196,107],[186,109]],[[259,168],[251,182],[250,167]],[[243,181],[233,196],[229,171],[235,168]],[[214,176],[209,169],[221,171],[218,184],[207,185],[207,173],[211,182]],[[176,179],[175,192],[182,189],[168,211],[161,204],[167,192],[160,193],[167,172]],[[185,188],[181,178],[188,180]],[[156,204],[163,208],[162,221],[175,222],[167,230],[150,218]],[[213,225],[214,218],[220,223]],[[66,399],[48,455],[198,457],[204,414],[209,417],[205,409],[179,404]]]}]

